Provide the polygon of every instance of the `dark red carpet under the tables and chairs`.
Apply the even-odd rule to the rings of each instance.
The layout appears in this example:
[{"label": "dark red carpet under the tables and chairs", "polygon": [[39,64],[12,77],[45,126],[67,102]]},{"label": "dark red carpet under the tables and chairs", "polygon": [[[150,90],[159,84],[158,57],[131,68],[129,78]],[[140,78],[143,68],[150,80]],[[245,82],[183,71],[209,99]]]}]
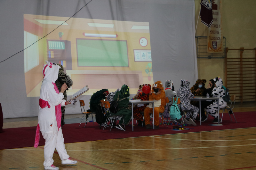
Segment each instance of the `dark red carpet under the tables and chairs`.
[{"label": "dark red carpet under the tables and chairs", "polygon": [[[145,127],[134,126],[134,131],[132,131],[132,126],[127,125],[126,131],[122,131],[116,128],[113,128],[109,132],[110,127],[107,127],[102,131],[98,124],[94,122],[88,123],[84,128],[84,123],[81,124],[80,128],[79,123],[74,124],[65,124],[62,126],[62,132],[64,136],[65,143],[74,143],[74,142],[84,142],[84,141],[95,141],[95,140],[105,140],[105,139],[118,139],[126,137],[141,137],[141,136],[153,136],[153,135],[165,135],[165,134],[174,134],[174,133],[186,133],[186,132],[200,132],[200,131],[211,131],[211,130],[222,130],[222,129],[236,129],[236,128],[249,128],[256,127],[255,116],[256,111],[254,112],[239,112],[235,113],[237,123],[230,121],[228,114],[223,115],[223,126],[209,126],[212,123],[213,118],[211,117],[206,122],[202,122],[200,126],[199,122],[197,126],[185,126],[191,128],[189,130],[174,131],[172,125],[166,126],[160,125],[159,129],[146,129]],[[231,115],[233,116],[233,115]],[[18,122],[17,122],[18,123]],[[134,121],[135,123],[135,121]],[[11,149],[11,148],[21,148],[21,147],[31,147],[34,146],[36,127],[25,127],[25,128],[10,128],[4,129],[4,133],[0,133],[0,149]],[[40,145],[44,145],[44,138],[40,132]]]}]

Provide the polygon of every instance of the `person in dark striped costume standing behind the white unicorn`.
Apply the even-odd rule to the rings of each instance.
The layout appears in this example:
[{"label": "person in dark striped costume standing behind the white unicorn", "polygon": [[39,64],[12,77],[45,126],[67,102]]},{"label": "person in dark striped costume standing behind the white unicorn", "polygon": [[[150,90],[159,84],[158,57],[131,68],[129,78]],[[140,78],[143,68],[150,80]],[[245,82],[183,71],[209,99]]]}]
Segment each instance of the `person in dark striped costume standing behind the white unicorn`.
[{"label": "person in dark striped costume standing behind the white unicorn", "polygon": [[[55,84],[58,87],[59,91],[61,86],[66,83],[68,85],[68,88],[70,88],[73,85],[72,79],[64,73],[64,67],[61,64],[57,64],[60,66],[58,79],[56,80]],[[68,90],[68,89],[67,89]],[[64,91],[64,100],[67,100],[67,90]],[[61,107],[61,126],[65,124],[64,122],[64,115],[65,115],[65,106]]]}]

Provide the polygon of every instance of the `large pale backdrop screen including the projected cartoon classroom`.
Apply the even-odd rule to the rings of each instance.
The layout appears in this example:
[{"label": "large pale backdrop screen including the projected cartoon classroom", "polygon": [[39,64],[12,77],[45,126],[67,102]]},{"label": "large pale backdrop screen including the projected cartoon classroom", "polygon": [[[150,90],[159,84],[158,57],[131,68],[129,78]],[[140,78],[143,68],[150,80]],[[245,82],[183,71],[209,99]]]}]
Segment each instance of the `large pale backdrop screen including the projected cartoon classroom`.
[{"label": "large pale backdrop screen including the projected cartoon classroom", "polygon": [[[4,118],[38,115],[45,60],[62,64],[72,78],[68,99],[88,85],[77,99],[85,109],[103,88],[126,84],[131,98],[141,84],[170,79],[177,90],[180,79],[196,81],[194,0],[88,2],[1,0],[0,61],[13,55],[0,63]],[[81,113],[79,103],[65,110]]]}]

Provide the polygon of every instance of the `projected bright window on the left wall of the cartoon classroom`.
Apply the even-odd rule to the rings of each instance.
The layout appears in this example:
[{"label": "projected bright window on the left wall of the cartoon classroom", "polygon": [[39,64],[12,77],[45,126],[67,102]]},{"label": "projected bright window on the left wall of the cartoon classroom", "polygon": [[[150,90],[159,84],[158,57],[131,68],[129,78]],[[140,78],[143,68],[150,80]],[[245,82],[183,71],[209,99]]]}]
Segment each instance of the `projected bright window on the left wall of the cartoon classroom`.
[{"label": "projected bright window on the left wall of the cartoon classroom", "polygon": [[[38,40],[38,36],[24,31],[24,48],[27,48]],[[38,42],[24,50],[24,69],[25,72],[31,70],[39,64]]]}]

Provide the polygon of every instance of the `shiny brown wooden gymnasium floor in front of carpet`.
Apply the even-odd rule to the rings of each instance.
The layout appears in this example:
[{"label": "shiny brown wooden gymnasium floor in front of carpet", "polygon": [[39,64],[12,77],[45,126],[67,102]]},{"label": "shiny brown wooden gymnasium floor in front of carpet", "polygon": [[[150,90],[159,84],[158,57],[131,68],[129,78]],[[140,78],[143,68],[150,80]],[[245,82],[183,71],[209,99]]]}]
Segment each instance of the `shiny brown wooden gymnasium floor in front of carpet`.
[{"label": "shiny brown wooden gymnasium floor in front of carpet", "polygon": [[[255,111],[255,107],[242,110]],[[54,165],[60,169],[256,169],[256,128],[89,141],[65,146],[71,159],[78,163],[63,166],[56,152]],[[44,169],[43,149],[40,146],[0,150],[0,169]]]}]

